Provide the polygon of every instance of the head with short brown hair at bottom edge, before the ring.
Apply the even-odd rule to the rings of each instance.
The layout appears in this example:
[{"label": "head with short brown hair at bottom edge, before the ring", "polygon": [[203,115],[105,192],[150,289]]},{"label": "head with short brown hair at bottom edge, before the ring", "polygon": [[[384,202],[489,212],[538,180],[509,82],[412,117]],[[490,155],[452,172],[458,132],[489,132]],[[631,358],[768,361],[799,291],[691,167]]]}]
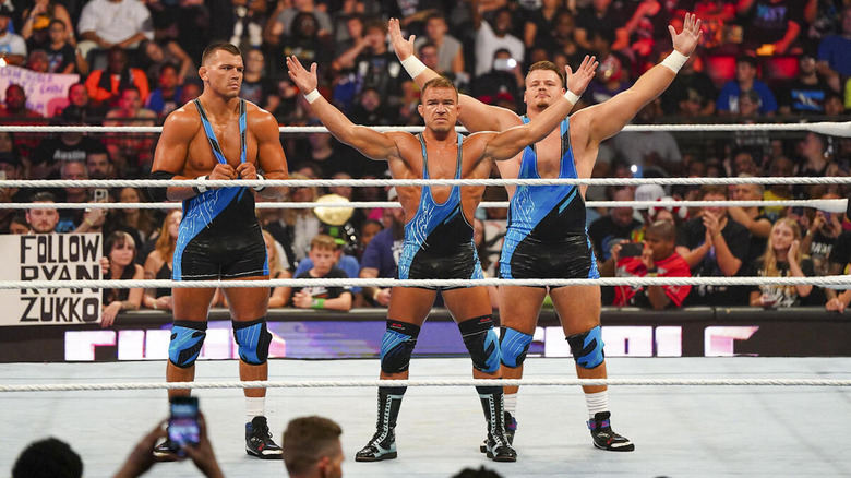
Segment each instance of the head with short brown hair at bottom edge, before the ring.
[{"label": "head with short brown hair at bottom edge, before the ring", "polygon": [[[307,476],[320,468],[321,476],[341,476],[343,447],[339,425],[312,416],[292,419],[284,430],[284,464],[290,477]],[[335,475],[336,471],[336,475]]]}]

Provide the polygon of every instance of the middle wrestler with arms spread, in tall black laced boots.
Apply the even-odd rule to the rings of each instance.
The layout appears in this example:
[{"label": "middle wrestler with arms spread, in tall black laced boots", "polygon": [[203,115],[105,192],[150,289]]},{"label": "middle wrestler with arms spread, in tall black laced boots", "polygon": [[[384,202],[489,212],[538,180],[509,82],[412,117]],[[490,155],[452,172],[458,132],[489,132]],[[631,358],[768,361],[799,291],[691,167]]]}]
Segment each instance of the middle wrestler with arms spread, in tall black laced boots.
[{"label": "middle wrestler with arms spread, in tall black laced boots", "polygon": [[[477,133],[467,139],[455,132],[458,92],[451,81],[435,77],[422,88],[419,112],[425,131],[380,133],[351,123],[316,92],[316,64],[307,71],[298,59],[287,59],[289,76],[302,92],[313,112],[339,141],[367,157],[386,160],[396,179],[487,178],[492,160],[514,157],[526,145],[543,139],[570,112],[585,91],[597,63],[585,58],[576,74],[567,70],[571,92],[554,99],[552,107],[535,121],[502,133]],[[576,92],[575,94],[572,92]],[[568,99],[570,98],[570,99]],[[482,278],[472,243],[472,215],[481,201],[483,187],[397,187],[405,211],[405,244],[398,263],[400,279]],[[464,344],[472,358],[472,377],[498,379],[500,346],[491,322],[486,287],[444,288],[443,299],[458,323]],[[435,289],[394,287],[387,310],[387,331],[381,344],[381,379],[408,378],[411,352],[420,327],[429,315]],[[396,418],[404,386],[379,389],[377,430],[360,452],[359,462],[396,457]],[[498,462],[514,462],[516,453],[505,438],[502,387],[477,386],[488,422],[486,452]]]}]

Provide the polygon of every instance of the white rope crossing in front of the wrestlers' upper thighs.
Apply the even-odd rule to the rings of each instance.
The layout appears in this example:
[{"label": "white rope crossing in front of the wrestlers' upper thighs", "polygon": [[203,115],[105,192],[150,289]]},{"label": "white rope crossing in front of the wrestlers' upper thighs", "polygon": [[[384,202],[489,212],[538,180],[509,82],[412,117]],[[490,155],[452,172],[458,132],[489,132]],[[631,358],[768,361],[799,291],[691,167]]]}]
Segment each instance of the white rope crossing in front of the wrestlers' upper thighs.
[{"label": "white rope crossing in front of the wrestlers' upper thighs", "polygon": [[542,279],[394,279],[394,278],[289,278],[269,280],[0,280],[0,289],[131,289],[131,288],[247,288],[247,287],[472,287],[472,286],[661,286],[661,285],[709,285],[753,286],[770,284],[777,286],[807,285],[846,288],[851,286],[849,275],[820,277],[601,277],[591,278],[542,278]]}]

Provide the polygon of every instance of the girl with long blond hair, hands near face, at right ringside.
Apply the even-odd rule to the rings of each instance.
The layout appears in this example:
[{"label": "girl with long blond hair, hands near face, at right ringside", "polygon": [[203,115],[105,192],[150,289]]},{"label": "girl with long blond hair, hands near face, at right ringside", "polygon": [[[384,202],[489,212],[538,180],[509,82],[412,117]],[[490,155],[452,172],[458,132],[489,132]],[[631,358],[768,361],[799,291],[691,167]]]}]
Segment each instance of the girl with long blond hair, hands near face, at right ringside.
[{"label": "girl with long blond hair, hands near face, at right ringside", "polygon": [[[793,219],[781,218],[771,228],[765,252],[751,263],[745,275],[760,277],[813,277],[813,260],[802,253],[801,228]],[[812,284],[779,286],[764,284],[751,290],[752,307],[801,306],[813,291]],[[819,303],[823,303],[820,301]]]}]

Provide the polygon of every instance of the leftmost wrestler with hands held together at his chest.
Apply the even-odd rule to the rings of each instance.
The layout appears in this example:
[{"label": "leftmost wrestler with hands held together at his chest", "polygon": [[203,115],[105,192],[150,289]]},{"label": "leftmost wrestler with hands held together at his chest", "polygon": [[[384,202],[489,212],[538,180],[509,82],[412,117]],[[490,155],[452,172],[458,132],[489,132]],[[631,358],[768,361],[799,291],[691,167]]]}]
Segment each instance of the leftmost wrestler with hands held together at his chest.
[{"label": "leftmost wrestler with hands held together at his chest", "polygon": [[[268,112],[239,98],[242,57],[233,45],[213,44],[204,50],[199,75],[204,91],[197,99],[166,119],[154,153],[152,179],[268,179],[287,178],[287,159],[278,139],[278,123]],[[254,188],[264,199],[280,198],[284,188]],[[268,279],[266,248],[254,216],[254,192],[245,187],[152,188],[159,201],[182,200],[173,258],[175,280]],[[266,380],[271,334],[266,330],[268,288],[226,288],[225,296],[239,346],[241,380]],[[195,359],[207,328],[215,288],[175,288],[169,382],[191,382]],[[189,394],[170,390],[169,397]],[[245,452],[280,459],[265,415],[265,389],[245,389]],[[168,443],[157,447],[168,458]]]}]

